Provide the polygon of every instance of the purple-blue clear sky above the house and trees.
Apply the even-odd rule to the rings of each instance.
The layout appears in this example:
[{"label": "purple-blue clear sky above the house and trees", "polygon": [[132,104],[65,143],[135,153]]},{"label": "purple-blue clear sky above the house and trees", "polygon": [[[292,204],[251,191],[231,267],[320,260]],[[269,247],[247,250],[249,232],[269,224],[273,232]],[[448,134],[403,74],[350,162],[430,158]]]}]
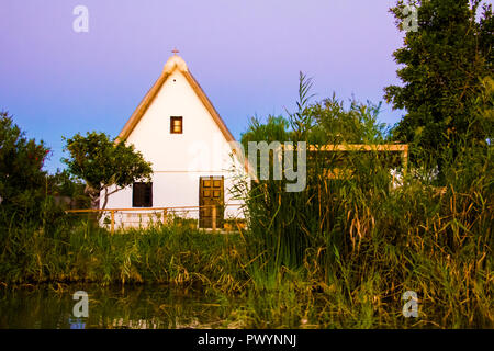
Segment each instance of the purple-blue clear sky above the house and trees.
[{"label": "purple-blue clear sky above the house and trees", "polygon": [[[398,83],[394,0],[2,0],[0,110],[43,139],[63,167],[61,136],[116,136],[177,46],[235,137],[255,114],[283,114],[299,71],[315,100],[383,100]],[[72,10],[89,9],[89,33]],[[402,116],[383,104],[381,121]]]}]

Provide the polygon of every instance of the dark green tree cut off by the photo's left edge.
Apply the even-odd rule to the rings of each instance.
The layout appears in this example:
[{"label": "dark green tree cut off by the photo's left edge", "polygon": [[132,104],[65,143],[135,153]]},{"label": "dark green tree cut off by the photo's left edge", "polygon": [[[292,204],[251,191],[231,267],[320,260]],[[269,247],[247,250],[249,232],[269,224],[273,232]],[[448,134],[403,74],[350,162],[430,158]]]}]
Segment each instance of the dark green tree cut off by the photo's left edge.
[{"label": "dark green tree cut off by the photo's left edge", "polygon": [[34,211],[43,197],[49,149],[29,139],[7,112],[0,113],[0,203],[9,211]]}]

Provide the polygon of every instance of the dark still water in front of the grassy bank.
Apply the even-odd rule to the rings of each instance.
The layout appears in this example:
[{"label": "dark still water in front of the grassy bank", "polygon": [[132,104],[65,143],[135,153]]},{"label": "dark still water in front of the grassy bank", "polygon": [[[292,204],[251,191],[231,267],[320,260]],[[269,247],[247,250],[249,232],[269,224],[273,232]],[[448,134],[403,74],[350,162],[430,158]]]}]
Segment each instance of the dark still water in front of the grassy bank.
[{"label": "dark still water in front of the grassy bank", "polygon": [[[88,293],[88,317],[77,318],[72,299]],[[40,285],[0,288],[0,328],[227,328],[233,301],[164,285]]]}]

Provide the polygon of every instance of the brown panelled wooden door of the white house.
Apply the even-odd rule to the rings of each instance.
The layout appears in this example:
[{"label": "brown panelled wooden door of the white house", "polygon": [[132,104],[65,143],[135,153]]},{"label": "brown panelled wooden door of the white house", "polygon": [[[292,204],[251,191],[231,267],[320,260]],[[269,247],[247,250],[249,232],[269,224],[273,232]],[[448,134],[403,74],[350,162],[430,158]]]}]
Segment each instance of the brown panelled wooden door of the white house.
[{"label": "brown panelled wooden door of the white house", "polygon": [[199,227],[213,227],[213,208],[216,206],[216,228],[223,228],[224,218],[224,177],[201,177],[199,179]]}]

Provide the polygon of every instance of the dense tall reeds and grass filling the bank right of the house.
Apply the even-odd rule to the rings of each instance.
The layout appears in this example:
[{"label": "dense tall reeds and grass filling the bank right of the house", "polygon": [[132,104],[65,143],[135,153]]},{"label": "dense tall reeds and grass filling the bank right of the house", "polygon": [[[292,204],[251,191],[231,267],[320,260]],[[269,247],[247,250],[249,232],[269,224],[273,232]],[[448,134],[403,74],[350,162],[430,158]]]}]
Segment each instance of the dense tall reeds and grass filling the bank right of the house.
[{"label": "dense tall reeds and grass filling the bank right of the house", "polygon": [[[476,99],[490,101],[487,91]],[[352,128],[351,114],[340,117],[341,126],[349,126],[343,137],[329,127],[338,125],[337,113],[314,118],[314,110],[302,112],[311,113],[310,127],[301,127],[308,131],[307,140],[356,143],[374,135],[367,143],[375,143],[386,137],[377,122]],[[492,117],[490,110],[475,113],[479,121]],[[285,125],[276,121],[251,124],[245,136],[271,140]],[[366,133],[352,134],[360,128]],[[469,138],[456,146],[457,152],[447,148],[437,156],[445,188],[433,186],[428,159],[416,160],[393,182],[393,159],[322,151],[307,155],[303,192],[288,193],[283,181],[274,180],[238,186],[248,218],[246,270],[255,284],[251,294],[258,296],[244,318],[261,328],[269,327],[267,320],[303,327],[301,319],[325,320],[326,327],[492,326],[494,154]],[[349,172],[328,177],[328,170],[341,166]],[[407,290],[419,295],[419,319],[401,317]],[[321,301],[322,310],[316,307]]]}]

